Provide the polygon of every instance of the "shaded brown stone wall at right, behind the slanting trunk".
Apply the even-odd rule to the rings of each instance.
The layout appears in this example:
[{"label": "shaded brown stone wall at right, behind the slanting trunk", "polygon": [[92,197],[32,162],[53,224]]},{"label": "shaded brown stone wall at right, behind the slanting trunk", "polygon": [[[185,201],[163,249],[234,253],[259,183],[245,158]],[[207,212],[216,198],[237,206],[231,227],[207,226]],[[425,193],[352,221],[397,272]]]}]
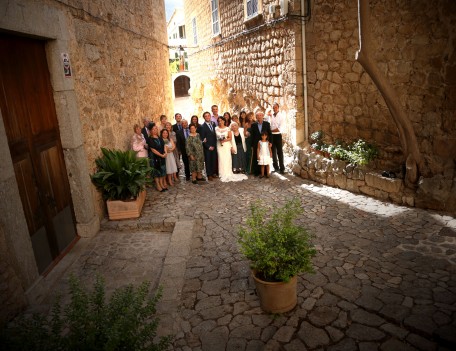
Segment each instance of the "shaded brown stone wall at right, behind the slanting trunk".
[{"label": "shaded brown stone wall at right, behind the slanting trunk", "polygon": [[[454,169],[455,6],[450,1],[371,1],[374,59],[413,123],[425,177]],[[321,129],[332,142],[375,142],[381,152],[377,167],[399,167],[405,159],[397,127],[355,62],[357,2],[312,1],[306,29],[309,132]]]}]

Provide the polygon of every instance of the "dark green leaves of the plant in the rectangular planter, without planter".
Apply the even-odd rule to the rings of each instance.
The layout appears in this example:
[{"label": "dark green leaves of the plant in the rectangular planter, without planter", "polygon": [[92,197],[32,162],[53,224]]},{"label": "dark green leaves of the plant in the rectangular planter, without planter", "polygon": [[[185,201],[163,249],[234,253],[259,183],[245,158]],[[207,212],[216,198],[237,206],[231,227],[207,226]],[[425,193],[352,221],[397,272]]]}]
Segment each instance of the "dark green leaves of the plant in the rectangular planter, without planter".
[{"label": "dark green leaves of the plant in the rectangular planter, without planter", "polygon": [[152,168],[147,158],[136,157],[133,150],[101,148],[102,157],[95,160],[97,172],[91,175],[92,183],[105,200],[135,198],[151,183]]}]

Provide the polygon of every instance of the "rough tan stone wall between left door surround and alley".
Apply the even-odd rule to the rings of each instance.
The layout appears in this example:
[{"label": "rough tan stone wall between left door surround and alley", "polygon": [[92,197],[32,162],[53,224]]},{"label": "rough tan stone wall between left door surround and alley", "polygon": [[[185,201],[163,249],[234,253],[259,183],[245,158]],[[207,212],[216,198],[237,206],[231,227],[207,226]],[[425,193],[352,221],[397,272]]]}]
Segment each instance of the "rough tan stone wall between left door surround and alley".
[{"label": "rough tan stone wall between left door surround and alley", "polygon": [[89,167],[126,149],[143,117],[171,113],[163,0],[73,1],[71,63]]}]

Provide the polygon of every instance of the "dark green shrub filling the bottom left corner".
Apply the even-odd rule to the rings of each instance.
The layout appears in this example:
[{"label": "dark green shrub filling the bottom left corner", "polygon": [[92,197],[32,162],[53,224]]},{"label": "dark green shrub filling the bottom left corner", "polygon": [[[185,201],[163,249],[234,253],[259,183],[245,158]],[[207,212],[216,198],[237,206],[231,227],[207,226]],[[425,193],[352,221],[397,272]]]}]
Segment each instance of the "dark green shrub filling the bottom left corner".
[{"label": "dark green shrub filling the bottom left corner", "polygon": [[155,317],[161,289],[149,297],[148,282],[114,291],[106,301],[102,278],[87,292],[70,278],[71,302],[62,310],[60,299],[48,317],[20,317],[2,331],[7,350],[166,350],[172,336],[154,340],[159,320]]}]

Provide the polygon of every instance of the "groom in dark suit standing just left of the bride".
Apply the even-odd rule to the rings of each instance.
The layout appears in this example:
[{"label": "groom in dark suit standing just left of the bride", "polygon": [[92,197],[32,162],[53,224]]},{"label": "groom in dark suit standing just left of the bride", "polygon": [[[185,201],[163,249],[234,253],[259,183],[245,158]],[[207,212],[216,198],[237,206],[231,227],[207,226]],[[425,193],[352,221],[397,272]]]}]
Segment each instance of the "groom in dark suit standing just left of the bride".
[{"label": "groom in dark suit standing just left of the bride", "polygon": [[209,112],[203,113],[204,123],[201,125],[199,134],[203,141],[204,162],[206,163],[206,175],[208,180],[217,177],[217,137],[215,135],[215,123],[211,121]]}]

